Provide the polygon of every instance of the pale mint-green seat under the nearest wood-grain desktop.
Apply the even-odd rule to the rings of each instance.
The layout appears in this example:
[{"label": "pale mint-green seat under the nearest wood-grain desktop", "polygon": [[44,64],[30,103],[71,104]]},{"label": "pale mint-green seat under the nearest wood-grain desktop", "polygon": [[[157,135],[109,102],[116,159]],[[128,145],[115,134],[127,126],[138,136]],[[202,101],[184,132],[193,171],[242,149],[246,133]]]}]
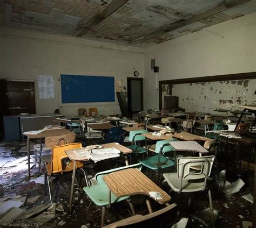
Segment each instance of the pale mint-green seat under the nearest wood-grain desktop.
[{"label": "pale mint-green seat under the nearest wood-grain desktop", "polygon": [[[83,190],[97,206],[106,206],[109,204],[109,190],[107,187],[100,186],[99,184],[93,184],[92,186],[84,187]],[[111,192],[111,204],[128,200],[129,198],[130,196],[117,198]]]}]

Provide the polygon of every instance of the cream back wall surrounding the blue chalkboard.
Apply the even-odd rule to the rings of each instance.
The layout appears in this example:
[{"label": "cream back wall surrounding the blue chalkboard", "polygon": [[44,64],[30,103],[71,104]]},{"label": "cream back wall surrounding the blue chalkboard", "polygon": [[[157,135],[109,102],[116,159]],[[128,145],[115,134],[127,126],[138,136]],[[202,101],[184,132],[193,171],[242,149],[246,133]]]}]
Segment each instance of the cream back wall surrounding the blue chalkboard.
[{"label": "cream back wall surrounding the blue chalkboard", "polygon": [[[143,48],[0,27],[0,50],[0,77],[35,81],[37,113],[52,113],[59,106],[64,115],[77,115],[79,107],[120,113],[117,97],[115,102],[62,105],[60,74],[114,76],[123,87],[135,69],[144,77]],[[53,76],[55,99],[39,99],[37,75]]]}]

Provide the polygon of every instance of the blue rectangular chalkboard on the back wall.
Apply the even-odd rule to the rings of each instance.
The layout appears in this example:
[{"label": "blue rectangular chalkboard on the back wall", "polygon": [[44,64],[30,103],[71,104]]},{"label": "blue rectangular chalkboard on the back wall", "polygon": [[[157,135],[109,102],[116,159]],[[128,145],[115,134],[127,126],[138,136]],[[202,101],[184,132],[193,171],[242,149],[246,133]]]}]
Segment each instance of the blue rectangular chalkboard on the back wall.
[{"label": "blue rectangular chalkboard on the back wall", "polygon": [[60,75],[62,103],[114,102],[114,77]]}]

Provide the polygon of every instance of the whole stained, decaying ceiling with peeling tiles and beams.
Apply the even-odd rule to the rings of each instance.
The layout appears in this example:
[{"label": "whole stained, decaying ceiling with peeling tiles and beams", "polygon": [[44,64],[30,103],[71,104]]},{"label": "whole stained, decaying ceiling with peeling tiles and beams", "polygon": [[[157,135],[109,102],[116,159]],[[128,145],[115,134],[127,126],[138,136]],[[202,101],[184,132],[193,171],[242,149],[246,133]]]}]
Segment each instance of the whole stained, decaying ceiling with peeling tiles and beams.
[{"label": "whole stained, decaying ceiling with peeling tiles and beams", "polygon": [[0,1],[5,26],[130,45],[159,44],[256,11],[256,0]]}]

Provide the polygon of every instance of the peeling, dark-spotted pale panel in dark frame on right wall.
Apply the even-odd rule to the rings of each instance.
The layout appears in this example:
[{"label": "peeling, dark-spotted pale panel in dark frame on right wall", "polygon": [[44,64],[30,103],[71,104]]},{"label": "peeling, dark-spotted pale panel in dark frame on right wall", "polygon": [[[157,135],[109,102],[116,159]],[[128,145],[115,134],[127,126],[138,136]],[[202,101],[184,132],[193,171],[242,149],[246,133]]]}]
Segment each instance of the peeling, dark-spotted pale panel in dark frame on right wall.
[{"label": "peeling, dark-spotted pale panel in dark frame on right wall", "polygon": [[215,113],[214,109],[256,104],[255,85],[256,79],[174,84],[172,95],[179,97],[179,106],[186,111]]}]

